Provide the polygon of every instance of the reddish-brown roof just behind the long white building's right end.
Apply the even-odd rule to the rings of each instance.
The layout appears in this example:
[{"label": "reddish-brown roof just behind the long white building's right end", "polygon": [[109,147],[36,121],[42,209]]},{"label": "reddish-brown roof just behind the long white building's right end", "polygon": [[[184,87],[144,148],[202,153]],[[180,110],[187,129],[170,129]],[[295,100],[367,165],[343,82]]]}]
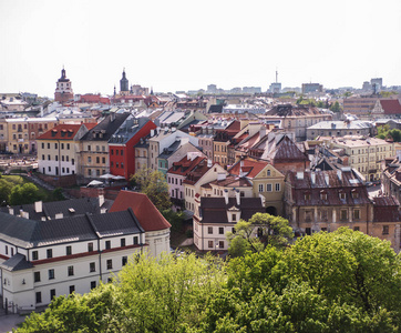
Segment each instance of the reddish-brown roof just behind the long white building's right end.
[{"label": "reddish-brown roof just behind the long white building's right end", "polygon": [[143,193],[120,191],[110,212],[125,211],[128,208],[134,211],[135,216],[145,231],[157,231],[172,226],[147,195]]}]

